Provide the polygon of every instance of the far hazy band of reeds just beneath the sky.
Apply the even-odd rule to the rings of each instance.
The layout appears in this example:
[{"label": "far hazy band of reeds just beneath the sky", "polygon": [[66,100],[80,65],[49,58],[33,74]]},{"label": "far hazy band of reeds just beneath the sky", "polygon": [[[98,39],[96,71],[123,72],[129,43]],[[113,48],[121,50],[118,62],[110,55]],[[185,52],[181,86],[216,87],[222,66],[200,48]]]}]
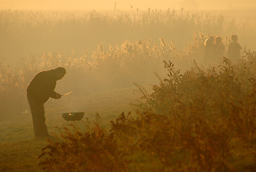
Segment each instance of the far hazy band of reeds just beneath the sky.
[{"label": "far hazy band of reeds just beneath the sky", "polygon": [[107,49],[109,44],[119,45],[126,40],[157,42],[160,37],[183,49],[193,38],[193,32],[228,37],[237,34],[242,45],[256,49],[255,28],[255,22],[250,24],[245,19],[241,22],[221,14],[173,9],[109,13],[6,10],[0,11],[0,56],[14,62],[30,54],[69,54],[74,49],[76,57],[86,51],[91,57],[101,42]]}]

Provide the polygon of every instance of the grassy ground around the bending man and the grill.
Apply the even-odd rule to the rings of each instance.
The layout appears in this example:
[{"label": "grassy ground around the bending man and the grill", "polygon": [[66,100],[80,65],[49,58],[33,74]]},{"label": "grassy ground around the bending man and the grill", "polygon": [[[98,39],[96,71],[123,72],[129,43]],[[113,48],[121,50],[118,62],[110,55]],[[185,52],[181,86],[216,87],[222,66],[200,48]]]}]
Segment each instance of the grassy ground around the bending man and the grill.
[{"label": "grassy ground around the bending man and the grill", "polygon": [[[60,100],[48,100],[45,103],[45,118],[51,132],[57,133],[59,128],[70,123],[82,125],[85,118],[93,120],[96,113],[101,116],[102,123],[108,125],[122,112],[129,111],[129,103],[136,102],[135,87],[123,88],[109,92],[70,94]],[[79,110],[85,113],[81,121],[68,122],[61,117],[62,113]],[[42,171],[38,166],[37,156],[46,139],[34,138],[30,113],[21,113],[17,118],[0,122],[0,171]]]}]

